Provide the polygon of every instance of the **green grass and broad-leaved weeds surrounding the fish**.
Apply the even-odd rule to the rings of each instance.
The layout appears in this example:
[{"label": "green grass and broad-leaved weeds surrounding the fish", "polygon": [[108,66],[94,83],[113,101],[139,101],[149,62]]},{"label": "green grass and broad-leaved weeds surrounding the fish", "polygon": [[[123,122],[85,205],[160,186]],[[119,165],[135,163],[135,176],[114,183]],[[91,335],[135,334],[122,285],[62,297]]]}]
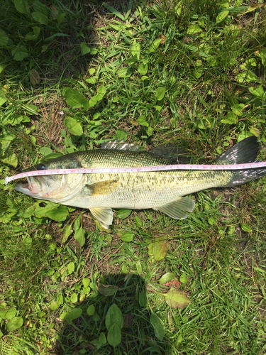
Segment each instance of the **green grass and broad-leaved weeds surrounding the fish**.
[{"label": "green grass and broad-leaved weeds surrounding the fish", "polygon": [[[106,3],[0,6],[0,352],[265,354],[265,178],[194,194],[184,221],[117,211],[107,231],[86,210],[47,217],[58,205],[4,185],[121,138],[174,141],[204,163],[255,135],[265,160],[262,3]],[[181,285],[161,284],[167,273]],[[189,304],[169,305],[169,290]]]}]

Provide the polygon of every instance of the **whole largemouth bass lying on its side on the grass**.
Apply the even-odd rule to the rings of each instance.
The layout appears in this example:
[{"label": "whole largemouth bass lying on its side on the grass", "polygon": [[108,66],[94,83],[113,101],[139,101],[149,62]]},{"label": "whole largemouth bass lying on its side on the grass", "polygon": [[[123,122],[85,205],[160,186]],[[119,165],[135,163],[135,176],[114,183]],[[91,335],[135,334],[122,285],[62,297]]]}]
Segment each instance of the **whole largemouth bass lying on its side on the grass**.
[{"label": "whole largemouth bass lying on its side on the grass", "polygon": [[[250,136],[221,153],[211,164],[253,163],[260,151]],[[76,151],[39,163],[26,171],[77,168],[131,168],[189,163],[189,157],[173,144],[141,151],[133,143],[110,141],[100,149]],[[25,170],[24,170],[25,171]],[[18,182],[18,192],[36,199],[89,209],[108,229],[113,210],[155,209],[173,219],[185,219],[195,206],[186,195],[214,187],[233,187],[262,178],[266,168],[246,170],[164,170],[138,173],[38,175]]]}]

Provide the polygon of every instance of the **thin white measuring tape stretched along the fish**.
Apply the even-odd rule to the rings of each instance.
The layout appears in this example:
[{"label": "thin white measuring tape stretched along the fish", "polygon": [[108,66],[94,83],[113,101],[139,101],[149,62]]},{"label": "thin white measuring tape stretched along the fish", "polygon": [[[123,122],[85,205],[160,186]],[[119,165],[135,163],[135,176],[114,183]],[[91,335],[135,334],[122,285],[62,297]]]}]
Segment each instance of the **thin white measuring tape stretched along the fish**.
[{"label": "thin white measuring tape stretched along the fish", "polygon": [[196,164],[177,164],[177,165],[156,165],[143,166],[140,168],[93,168],[93,169],[55,169],[55,170],[34,170],[20,173],[5,178],[5,184],[10,181],[28,178],[29,176],[43,175],[65,175],[65,174],[99,174],[99,173],[147,173],[148,171],[164,170],[243,170],[254,168],[265,168],[266,161],[257,163],[235,164],[235,165],[196,165]]}]

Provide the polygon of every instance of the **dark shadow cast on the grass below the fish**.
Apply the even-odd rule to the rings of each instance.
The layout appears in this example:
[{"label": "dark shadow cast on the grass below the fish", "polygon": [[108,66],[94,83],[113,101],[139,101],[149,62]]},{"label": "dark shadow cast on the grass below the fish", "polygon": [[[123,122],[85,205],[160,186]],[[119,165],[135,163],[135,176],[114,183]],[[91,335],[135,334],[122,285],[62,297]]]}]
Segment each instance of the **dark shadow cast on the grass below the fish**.
[{"label": "dark shadow cast on the grass below the fish", "polygon": [[[82,310],[80,317],[71,320],[70,314],[65,316],[57,336],[55,354],[170,354],[167,339],[164,337],[160,341],[155,337],[145,296],[145,280],[134,274],[109,274],[105,280],[101,279],[101,283],[97,284],[98,290],[114,294],[104,296],[98,292],[76,305],[73,308],[75,311],[72,309],[72,315],[76,312],[78,315]],[[96,284],[91,283],[90,286],[94,288]],[[107,342],[106,328],[106,313],[113,304],[123,315],[121,343],[115,349]],[[160,317],[160,314],[157,316]]]}]

